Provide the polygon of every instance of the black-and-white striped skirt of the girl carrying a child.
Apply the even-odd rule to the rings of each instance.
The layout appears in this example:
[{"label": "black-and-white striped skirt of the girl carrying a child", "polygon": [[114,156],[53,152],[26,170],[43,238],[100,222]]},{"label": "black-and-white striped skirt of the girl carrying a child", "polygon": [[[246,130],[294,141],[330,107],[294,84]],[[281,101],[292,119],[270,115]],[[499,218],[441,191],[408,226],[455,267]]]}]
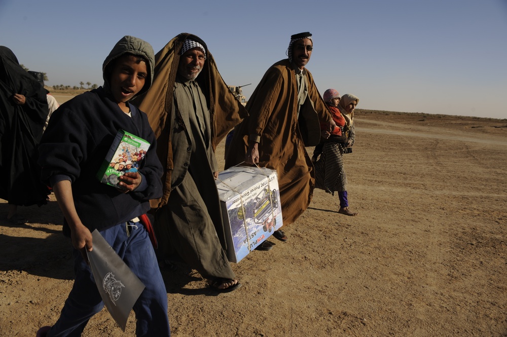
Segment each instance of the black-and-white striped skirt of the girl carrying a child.
[{"label": "black-and-white striped skirt of the girl carrying a child", "polygon": [[315,163],[315,188],[335,195],[335,191],[347,191],[346,185],[343,147],[335,142],[326,142],[320,159]]}]

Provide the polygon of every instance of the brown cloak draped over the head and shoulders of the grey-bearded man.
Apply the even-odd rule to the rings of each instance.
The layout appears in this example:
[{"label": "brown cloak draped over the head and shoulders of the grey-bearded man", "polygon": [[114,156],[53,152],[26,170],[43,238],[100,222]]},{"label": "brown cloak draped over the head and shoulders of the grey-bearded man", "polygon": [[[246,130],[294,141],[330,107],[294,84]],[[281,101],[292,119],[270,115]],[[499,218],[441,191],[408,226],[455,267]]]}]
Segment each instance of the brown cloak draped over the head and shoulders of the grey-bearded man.
[{"label": "brown cloak draped over the head and shoulders of the grey-bearded man", "polygon": [[[162,177],[164,193],[161,199],[153,200],[153,208],[167,204],[171,192],[171,171],[174,167],[171,144],[170,116],[174,103],[174,82],[179,63],[179,51],[187,38],[192,34],[181,33],[173,38],[155,55],[155,75],[150,90],[134,100],[134,104],[148,115],[150,125],[157,137],[157,153],[164,166]],[[199,39],[200,40],[200,39]],[[243,118],[248,116],[245,108],[234,97],[222,79],[213,56],[206,51],[206,61],[196,80],[206,96],[211,121],[211,144],[213,151],[216,145]]]}]

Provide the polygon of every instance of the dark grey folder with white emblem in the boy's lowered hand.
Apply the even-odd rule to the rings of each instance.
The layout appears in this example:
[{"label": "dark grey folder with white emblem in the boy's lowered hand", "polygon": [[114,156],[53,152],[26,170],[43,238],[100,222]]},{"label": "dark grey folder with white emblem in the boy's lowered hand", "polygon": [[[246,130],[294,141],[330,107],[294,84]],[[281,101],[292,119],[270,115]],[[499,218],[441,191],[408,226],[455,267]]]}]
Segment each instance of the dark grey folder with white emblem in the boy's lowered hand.
[{"label": "dark grey folder with white emblem in the boy's lowered hand", "polygon": [[93,249],[87,251],[90,268],[102,301],[125,331],[127,319],[144,284],[135,276],[100,233],[92,232]]}]

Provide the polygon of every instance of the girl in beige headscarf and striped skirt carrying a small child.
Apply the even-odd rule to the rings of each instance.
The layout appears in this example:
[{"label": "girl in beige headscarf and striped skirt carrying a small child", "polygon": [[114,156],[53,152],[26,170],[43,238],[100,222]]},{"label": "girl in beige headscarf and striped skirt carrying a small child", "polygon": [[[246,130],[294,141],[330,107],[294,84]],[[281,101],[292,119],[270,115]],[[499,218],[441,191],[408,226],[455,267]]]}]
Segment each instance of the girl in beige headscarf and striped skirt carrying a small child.
[{"label": "girl in beige headscarf and striped skirt carrying a small child", "polygon": [[[329,105],[333,102],[326,103]],[[357,215],[357,213],[352,212],[348,206],[347,177],[343,169],[342,155],[352,152],[352,145],[355,141],[354,109],[357,103],[359,103],[359,98],[351,94],[345,94],[341,97],[339,103],[335,105],[345,119],[345,125],[341,126],[341,131],[347,139],[344,142],[325,142],[322,155],[315,163],[315,187],[332,195],[337,191],[340,199],[338,213],[349,216]]]}]

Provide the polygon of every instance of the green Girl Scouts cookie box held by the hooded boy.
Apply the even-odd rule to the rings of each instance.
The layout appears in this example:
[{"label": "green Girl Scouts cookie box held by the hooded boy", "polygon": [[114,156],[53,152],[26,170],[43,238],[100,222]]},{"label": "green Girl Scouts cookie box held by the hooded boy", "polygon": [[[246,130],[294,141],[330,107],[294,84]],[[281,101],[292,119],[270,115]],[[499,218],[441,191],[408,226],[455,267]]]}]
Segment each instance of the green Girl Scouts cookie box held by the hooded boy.
[{"label": "green Girl Scouts cookie box held by the hooded boy", "polygon": [[118,187],[119,176],[137,172],[150,143],[136,135],[119,130],[97,173],[100,182]]}]

